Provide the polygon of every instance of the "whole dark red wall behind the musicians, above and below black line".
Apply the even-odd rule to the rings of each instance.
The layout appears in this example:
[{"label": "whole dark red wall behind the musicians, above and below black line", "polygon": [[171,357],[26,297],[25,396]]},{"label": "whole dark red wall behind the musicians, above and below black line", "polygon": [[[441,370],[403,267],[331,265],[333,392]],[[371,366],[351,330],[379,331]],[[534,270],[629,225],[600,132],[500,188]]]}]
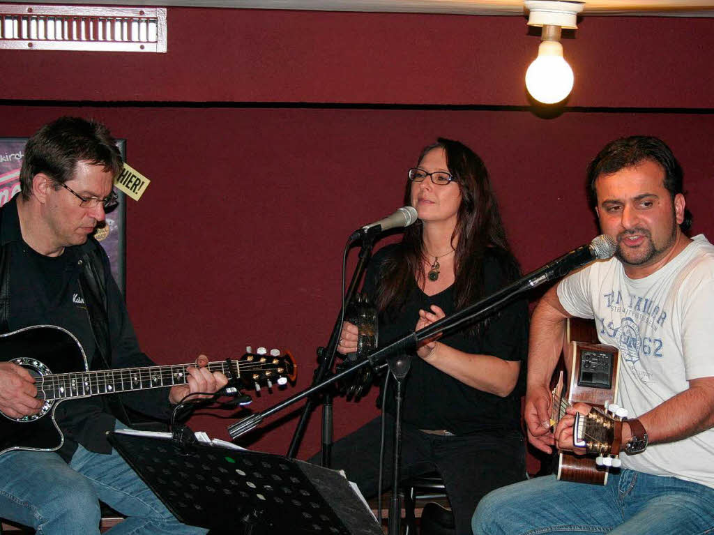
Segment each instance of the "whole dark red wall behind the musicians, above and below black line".
[{"label": "whole dark red wall behind the musicians, above and below black line", "polygon": [[[613,109],[540,119],[527,109],[232,104],[526,104],[521,76],[538,38],[519,17],[170,9],[165,55],[0,51],[0,136],[79,114],[126,138],[129,164],[152,181],[141,201],[127,200],[127,301],[142,346],[160,363],[291,349],[298,385],[263,391],[253,403],[263,409],[309,384],[338,310],[346,237],[401,206],[406,169],[436,136],[483,156],[526,271],[597,234],[584,169],[617,136],[672,146],[694,231],[711,238],[712,30],[710,19],[584,20],[565,43],[578,79],[570,104]],[[87,99],[107,102],[78,104]],[[375,414],[372,397],[338,400],[336,436]],[[254,447],[286,451],[295,420],[277,420]],[[318,449],[318,420],[302,457]],[[192,425],[226,438],[233,421]]]}]

